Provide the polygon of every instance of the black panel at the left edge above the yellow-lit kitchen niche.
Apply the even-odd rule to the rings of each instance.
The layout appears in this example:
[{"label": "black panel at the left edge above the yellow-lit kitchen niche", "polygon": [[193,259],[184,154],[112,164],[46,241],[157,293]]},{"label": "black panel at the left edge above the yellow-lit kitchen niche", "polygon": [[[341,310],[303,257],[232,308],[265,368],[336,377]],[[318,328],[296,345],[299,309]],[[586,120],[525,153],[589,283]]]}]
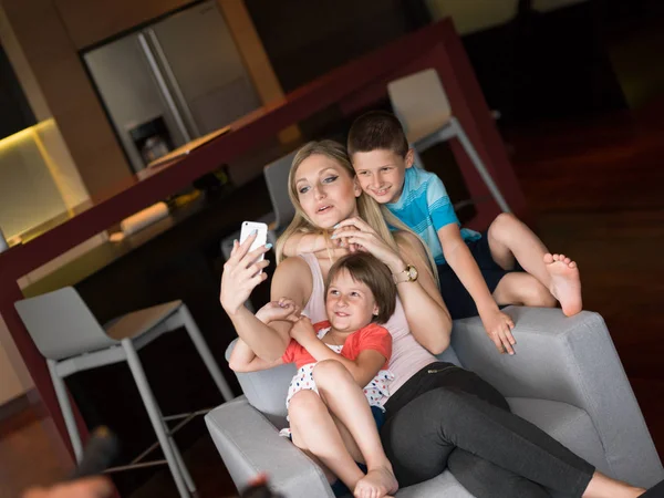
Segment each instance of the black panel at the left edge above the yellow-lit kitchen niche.
[{"label": "black panel at the left edge above the yellow-lit kitchen niche", "polygon": [[34,123],[34,114],[0,45],[0,139]]}]

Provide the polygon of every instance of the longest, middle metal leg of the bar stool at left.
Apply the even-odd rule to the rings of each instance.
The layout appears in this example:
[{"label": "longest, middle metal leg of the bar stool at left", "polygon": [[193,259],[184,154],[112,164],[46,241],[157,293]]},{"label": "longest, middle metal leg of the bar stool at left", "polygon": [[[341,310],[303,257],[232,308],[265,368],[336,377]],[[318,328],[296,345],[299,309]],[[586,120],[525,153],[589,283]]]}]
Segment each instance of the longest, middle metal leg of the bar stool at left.
[{"label": "longest, middle metal leg of the bar stool at left", "polygon": [[172,445],[172,439],[167,434],[159,407],[157,406],[153,392],[147,383],[147,378],[145,377],[145,372],[143,371],[143,365],[141,364],[138,354],[136,353],[131,339],[123,339],[122,346],[125,351],[127,363],[129,365],[129,370],[132,371],[132,375],[134,376],[136,387],[138,387],[141,398],[143,400],[143,404],[145,405],[145,409],[147,411],[147,415],[149,416],[153,428],[155,429],[157,439],[159,440],[159,445],[162,446],[162,450],[166,457],[166,461],[168,463],[168,468],[170,469],[170,474],[173,475],[177,490],[180,497],[188,498],[190,495],[187,490],[187,485],[185,484],[183,474],[180,471],[181,457],[180,461],[178,461],[176,453],[173,450],[173,446],[175,445]]}]

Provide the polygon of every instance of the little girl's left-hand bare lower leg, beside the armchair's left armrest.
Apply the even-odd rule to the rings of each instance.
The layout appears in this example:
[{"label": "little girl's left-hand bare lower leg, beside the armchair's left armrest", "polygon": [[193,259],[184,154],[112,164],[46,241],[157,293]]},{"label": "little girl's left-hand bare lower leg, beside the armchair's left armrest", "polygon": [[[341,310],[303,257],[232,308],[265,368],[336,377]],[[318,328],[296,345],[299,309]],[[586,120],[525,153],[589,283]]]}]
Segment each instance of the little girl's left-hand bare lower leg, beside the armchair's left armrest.
[{"label": "little girl's left-hand bare lower leg, beside the armchair's left armrest", "polygon": [[349,489],[364,477],[339,434],[328,407],[313,391],[300,391],[290,401],[288,414],[293,444],[315,455]]}]

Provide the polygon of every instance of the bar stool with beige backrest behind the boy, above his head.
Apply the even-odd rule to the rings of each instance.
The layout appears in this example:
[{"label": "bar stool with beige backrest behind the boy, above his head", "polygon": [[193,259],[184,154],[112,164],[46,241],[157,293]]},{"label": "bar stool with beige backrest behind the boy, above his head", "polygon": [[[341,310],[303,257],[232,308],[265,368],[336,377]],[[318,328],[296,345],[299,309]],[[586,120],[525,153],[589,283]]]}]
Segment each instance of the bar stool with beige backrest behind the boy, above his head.
[{"label": "bar stool with beige backrest behind the boy, above his head", "polygon": [[500,209],[510,212],[502,193],[461,124],[452,114],[449,101],[436,70],[429,69],[394,80],[387,84],[387,93],[394,113],[404,126],[408,143],[415,149],[417,166],[422,167],[419,153],[439,142],[457,137]]}]

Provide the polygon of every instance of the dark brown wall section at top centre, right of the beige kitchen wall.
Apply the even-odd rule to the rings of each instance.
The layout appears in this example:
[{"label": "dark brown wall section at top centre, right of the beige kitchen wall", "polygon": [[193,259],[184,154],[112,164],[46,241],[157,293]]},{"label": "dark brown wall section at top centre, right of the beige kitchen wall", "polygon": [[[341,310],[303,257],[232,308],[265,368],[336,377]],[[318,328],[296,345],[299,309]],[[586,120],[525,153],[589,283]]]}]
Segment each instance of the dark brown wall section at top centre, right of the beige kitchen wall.
[{"label": "dark brown wall section at top centre, right of the beige kitchen wall", "polygon": [[290,92],[430,22],[423,0],[246,0]]}]

